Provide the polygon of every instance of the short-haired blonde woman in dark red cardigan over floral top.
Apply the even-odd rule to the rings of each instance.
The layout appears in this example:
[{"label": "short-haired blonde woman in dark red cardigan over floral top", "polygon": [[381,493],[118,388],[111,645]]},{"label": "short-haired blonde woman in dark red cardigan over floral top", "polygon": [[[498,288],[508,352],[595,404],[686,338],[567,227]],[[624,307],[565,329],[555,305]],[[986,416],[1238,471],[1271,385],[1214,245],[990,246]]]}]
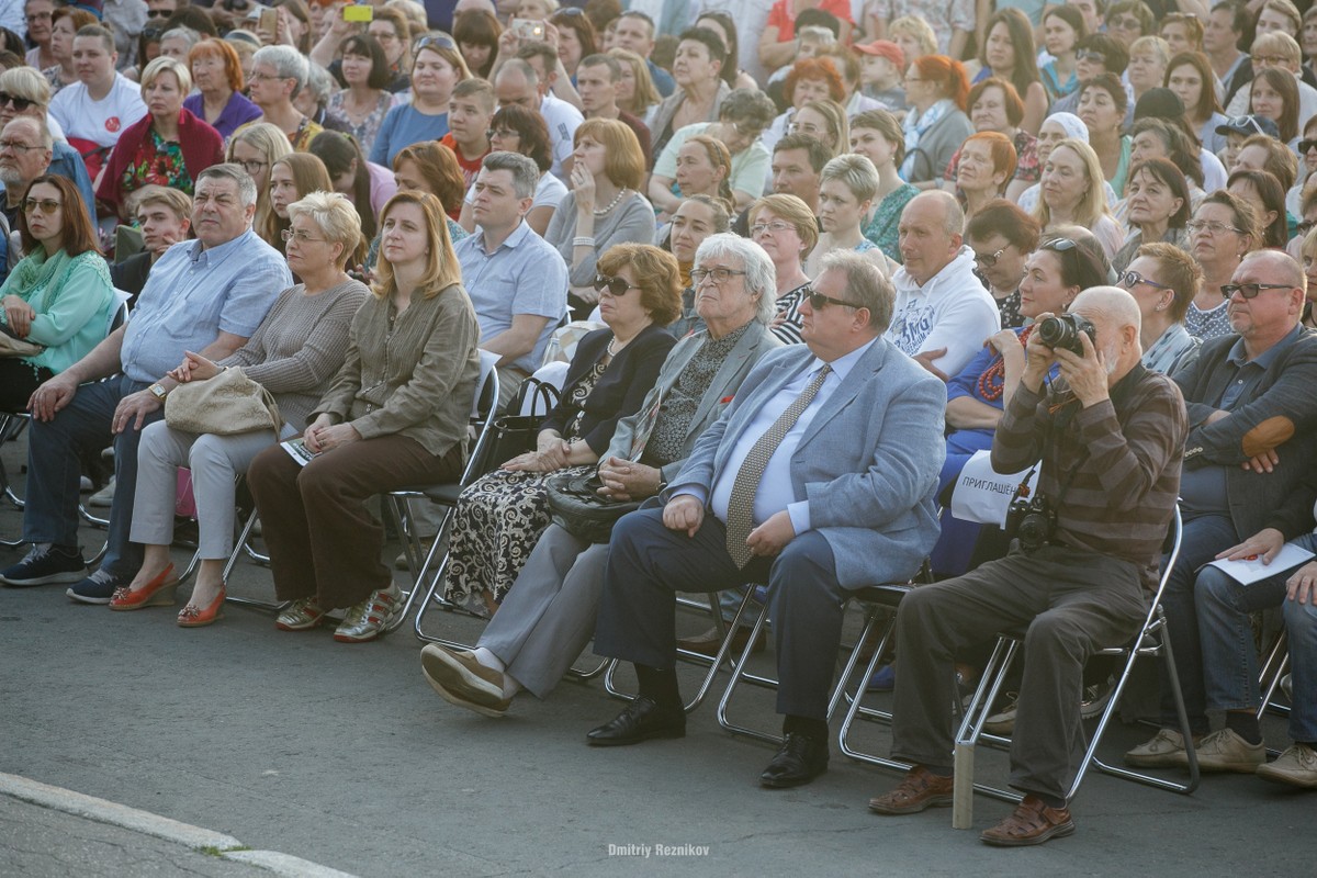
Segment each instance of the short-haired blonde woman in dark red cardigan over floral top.
[{"label": "short-haired blonde woman in dark red cardigan over floral top", "polygon": [[192,91],[187,66],[161,55],[142,70],[146,115],[124,129],[105,159],[96,197],[128,217],[128,196],[144,186],[192,194],[198,174],[224,161],[220,133],[183,107]]}]

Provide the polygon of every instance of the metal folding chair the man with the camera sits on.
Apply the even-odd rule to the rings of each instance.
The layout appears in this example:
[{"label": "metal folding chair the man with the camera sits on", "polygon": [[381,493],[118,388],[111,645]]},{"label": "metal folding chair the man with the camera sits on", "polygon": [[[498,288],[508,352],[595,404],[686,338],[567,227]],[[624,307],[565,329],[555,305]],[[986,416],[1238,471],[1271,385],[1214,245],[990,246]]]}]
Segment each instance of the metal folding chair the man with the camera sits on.
[{"label": "metal folding chair the man with the camera sits on", "polygon": [[[1181,538],[1183,523],[1180,519],[1180,508],[1175,508],[1175,513],[1171,520],[1171,528],[1167,533],[1166,540],[1166,562],[1162,567],[1162,577],[1158,581],[1156,592],[1148,602],[1147,615],[1143,619],[1143,625],[1139,632],[1123,646],[1114,646],[1101,649],[1094,656],[1110,656],[1121,657],[1125,659],[1125,666],[1121,671],[1119,678],[1115,682],[1115,688],[1112,692],[1112,698],[1108,700],[1105,710],[1097,719],[1097,728],[1089,738],[1088,749],[1084,752],[1084,757],[1080,761],[1079,771],[1075,774],[1075,781],[1071,783],[1069,790],[1065,792],[1065,798],[1072,799],[1079,791],[1080,783],[1084,782],[1084,777],[1088,774],[1090,766],[1096,767],[1104,774],[1110,774],[1113,777],[1125,778],[1126,781],[1134,781],[1137,783],[1143,783],[1146,786],[1156,787],[1159,790],[1167,790],[1171,792],[1179,792],[1187,795],[1193,792],[1198,786],[1198,757],[1193,749],[1193,735],[1189,729],[1189,717],[1184,707],[1184,696],[1180,691],[1179,678],[1175,673],[1175,656],[1171,652],[1171,640],[1167,633],[1166,613],[1162,609],[1162,594],[1166,591],[1166,584],[1169,581],[1171,570],[1175,569],[1175,563],[1180,557],[1180,538]],[[960,724],[960,731],[956,735],[956,748],[972,748],[979,742],[988,742],[996,746],[1009,746],[1010,740],[1001,736],[985,735],[982,731],[984,723],[988,719],[988,712],[997,694],[1005,682],[1006,674],[1010,670],[1010,665],[1019,652],[1019,646],[1023,642],[1025,632],[1013,631],[1002,633],[997,640],[997,646],[993,649],[993,656],[988,661],[988,666],[984,669],[982,677],[979,682],[979,687],[971,699],[969,706],[965,708],[964,719]],[[1187,753],[1189,761],[1189,779],[1187,783],[1177,783],[1173,781],[1167,781],[1164,778],[1154,777],[1150,774],[1143,774],[1141,771],[1131,771],[1130,769],[1119,767],[1104,762],[1097,758],[1097,748],[1102,742],[1102,735],[1106,732],[1106,727],[1112,720],[1112,716],[1119,707],[1121,694],[1125,691],[1125,686],[1130,679],[1130,673],[1134,669],[1134,663],[1139,658],[1144,657],[1158,657],[1160,656],[1167,662],[1167,677],[1171,681],[1171,696],[1175,702],[1176,715],[1180,724],[1180,733],[1184,736],[1187,742]],[[996,798],[1008,799],[1018,802],[1021,796],[1015,792],[1006,790],[985,787],[975,785],[975,790],[980,792],[988,792]]]}]

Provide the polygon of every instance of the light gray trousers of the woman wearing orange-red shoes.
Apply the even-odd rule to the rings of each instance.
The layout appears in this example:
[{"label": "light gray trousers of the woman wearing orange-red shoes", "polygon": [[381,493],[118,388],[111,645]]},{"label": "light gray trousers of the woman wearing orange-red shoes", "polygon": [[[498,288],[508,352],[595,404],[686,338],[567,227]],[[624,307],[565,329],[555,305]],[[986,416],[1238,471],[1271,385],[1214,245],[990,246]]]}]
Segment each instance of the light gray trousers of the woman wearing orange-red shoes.
[{"label": "light gray trousers of the woman wearing orange-red shoes", "polygon": [[192,470],[198,548],[204,559],[233,552],[234,487],[252,458],[274,445],[274,430],[215,436],[184,433],[155,421],[142,430],[137,448],[137,496],[129,538],[145,545],[174,541],[174,498],[178,467]]}]

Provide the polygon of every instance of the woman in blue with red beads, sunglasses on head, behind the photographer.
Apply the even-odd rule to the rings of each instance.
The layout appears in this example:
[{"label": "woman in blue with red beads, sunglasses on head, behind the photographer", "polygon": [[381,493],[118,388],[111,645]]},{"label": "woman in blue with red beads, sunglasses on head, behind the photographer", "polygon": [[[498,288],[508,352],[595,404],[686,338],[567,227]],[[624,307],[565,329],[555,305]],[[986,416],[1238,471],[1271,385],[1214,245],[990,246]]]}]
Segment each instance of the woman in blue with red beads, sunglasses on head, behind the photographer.
[{"label": "woman in blue with red beads, sunglasses on head, behind the photographer", "polygon": [[[1044,313],[1064,313],[1080,291],[1106,283],[1108,263],[1102,249],[1084,229],[1065,229],[1030,254],[1019,282],[1019,313],[1027,326],[1002,329],[984,342],[982,351],[947,384],[947,459],[939,491],[956,480],[976,452],[990,449],[1001,415],[1019,387],[1025,371],[1025,346],[1036,320]],[[1055,378],[1052,366],[1050,378]],[[938,575],[959,575],[969,566],[979,525],[943,512],[942,536],[931,554]]]}]

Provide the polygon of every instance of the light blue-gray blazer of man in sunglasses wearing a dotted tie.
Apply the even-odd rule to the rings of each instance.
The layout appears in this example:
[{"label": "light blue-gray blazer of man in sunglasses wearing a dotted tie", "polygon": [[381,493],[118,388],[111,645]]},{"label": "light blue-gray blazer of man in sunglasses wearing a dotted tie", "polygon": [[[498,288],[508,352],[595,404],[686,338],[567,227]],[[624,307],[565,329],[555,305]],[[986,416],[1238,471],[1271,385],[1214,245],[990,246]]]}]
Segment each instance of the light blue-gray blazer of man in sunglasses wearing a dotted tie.
[{"label": "light blue-gray blazer of man in sunglasses wearing a dotted tie", "polygon": [[[710,426],[664,500],[699,486],[711,495],[732,449],[764,403],[810,367],[814,353],[789,345],[764,357]],[[792,486],[810,504],[843,588],[903,581],[938,540],[934,498],[946,457],[946,386],[878,338],[827,398],[792,455]]]}]

